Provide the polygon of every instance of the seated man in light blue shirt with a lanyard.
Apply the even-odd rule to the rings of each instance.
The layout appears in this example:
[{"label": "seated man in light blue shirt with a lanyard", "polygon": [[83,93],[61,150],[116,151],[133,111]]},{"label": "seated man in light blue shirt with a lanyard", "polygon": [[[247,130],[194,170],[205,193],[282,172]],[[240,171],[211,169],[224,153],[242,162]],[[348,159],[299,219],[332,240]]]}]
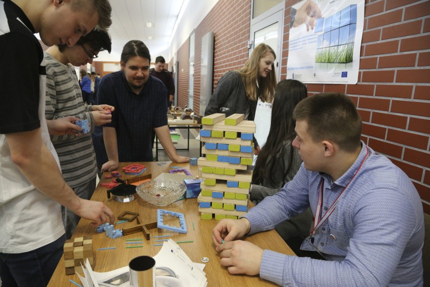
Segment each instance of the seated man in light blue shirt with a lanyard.
[{"label": "seated man in light blue shirt with a lanyard", "polygon": [[[213,229],[221,264],[283,286],[422,286],[423,211],[407,175],[360,140],[361,118],[344,94],[318,94],[294,109],[303,163],[294,179],[239,220]],[[273,229],[310,206],[301,249],[327,261],[279,254],[238,239]],[[224,238],[225,243],[222,243]]]}]

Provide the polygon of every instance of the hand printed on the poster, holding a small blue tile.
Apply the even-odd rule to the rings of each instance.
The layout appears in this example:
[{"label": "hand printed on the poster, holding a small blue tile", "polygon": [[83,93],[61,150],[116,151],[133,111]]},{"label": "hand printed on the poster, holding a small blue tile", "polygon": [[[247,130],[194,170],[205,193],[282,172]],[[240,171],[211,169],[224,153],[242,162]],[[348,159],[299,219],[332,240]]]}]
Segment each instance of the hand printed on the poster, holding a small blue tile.
[{"label": "hand printed on the poster, holding a small blue tile", "polygon": [[298,10],[294,8],[291,10],[290,27],[296,28],[301,24],[306,24],[307,31],[309,31],[309,27],[313,30],[313,27],[316,26],[316,19],[321,17],[323,17],[323,14],[318,5],[311,0],[307,0]]}]

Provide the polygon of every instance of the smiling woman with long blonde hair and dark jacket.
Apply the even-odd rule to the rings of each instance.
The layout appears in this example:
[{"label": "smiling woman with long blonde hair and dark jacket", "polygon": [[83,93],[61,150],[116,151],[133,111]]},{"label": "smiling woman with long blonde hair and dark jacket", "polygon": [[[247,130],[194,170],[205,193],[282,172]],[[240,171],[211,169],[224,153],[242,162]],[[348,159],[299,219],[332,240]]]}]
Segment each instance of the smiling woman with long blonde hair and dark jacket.
[{"label": "smiling woman with long blonde hair and dark jacket", "polygon": [[[204,115],[224,113],[229,117],[244,114],[245,120],[253,121],[258,99],[269,102],[275,94],[275,59],[276,54],[270,46],[264,43],[257,45],[244,67],[228,71],[221,77]],[[258,154],[255,139],[254,145],[254,152]]]}]

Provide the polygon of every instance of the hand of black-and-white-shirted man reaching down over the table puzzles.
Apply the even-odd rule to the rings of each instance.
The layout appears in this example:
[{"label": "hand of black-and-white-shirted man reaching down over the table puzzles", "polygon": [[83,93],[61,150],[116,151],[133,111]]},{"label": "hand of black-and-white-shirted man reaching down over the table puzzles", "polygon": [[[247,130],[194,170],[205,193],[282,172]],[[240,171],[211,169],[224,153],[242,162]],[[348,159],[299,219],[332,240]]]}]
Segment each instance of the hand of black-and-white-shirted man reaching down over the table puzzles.
[{"label": "hand of black-and-white-shirted man reaching down over the table puzzles", "polygon": [[82,218],[91,220],[92,226],[98,226],[106,221],[109,221],[110,224],[115,222],[112,210],[101,202],[79,199],[76,209],[74,207],[71,211]]}]

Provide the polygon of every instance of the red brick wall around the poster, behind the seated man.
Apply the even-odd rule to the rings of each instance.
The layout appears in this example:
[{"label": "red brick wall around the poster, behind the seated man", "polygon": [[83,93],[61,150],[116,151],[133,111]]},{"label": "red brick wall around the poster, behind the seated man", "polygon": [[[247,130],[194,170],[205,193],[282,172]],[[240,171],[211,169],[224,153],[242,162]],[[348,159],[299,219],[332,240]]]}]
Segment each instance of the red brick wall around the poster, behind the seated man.
[{"label": "red brick wall around the poster, behind the seated man", "polygon": [[[291,6],[285,3],[282,78]],[[366,0],[356,85],[307,84],[310,94],[344,92],[363,119],[362,140],[386,155],[430,202],[430,1]],[[430,205],[423,203],[430,213]]]}]

